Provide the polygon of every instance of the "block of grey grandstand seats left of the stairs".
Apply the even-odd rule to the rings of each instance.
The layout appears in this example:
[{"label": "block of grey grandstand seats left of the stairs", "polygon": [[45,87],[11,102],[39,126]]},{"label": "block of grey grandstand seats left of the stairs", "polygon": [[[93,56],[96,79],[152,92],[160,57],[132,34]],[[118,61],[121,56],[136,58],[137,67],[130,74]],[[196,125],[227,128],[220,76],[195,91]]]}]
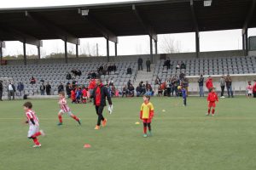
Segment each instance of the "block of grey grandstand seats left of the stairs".
[{"label": "block of grey grandstand seats left of the stairs", "polygon": [[[12,78],[15,87],[18,82],[23,82],[25,86],[25,94],[40,94],[40,80],[44,80],[44,84],[49,82],[52,87],[52,94],[57,94],[57,87],[62,82],[66,84],[67,72],[70,72],[73,68],[82,71],[82,76],[77,77],[76,80],[79,84],[88,85],[89,81],[86,79],[90,71],[95,71],[99,65],[106,63],[72,63],[72,64],[49,64],[49,65],[5,65],[0,67],[1,76]],[[134,61],[115,62],[117,71],[110,72],[109,75],[103,76],[102,81],[113,78],[116,88],[121,89],[129,79],[133,82],[137,74],[137,63]],[[131,66],[132,74],[126,75],[127,67]],[[35,77],[37,82],[34,85],[30,84],[31,77]],[[7,95],[7,84],[4,85],[3,95]]]}]

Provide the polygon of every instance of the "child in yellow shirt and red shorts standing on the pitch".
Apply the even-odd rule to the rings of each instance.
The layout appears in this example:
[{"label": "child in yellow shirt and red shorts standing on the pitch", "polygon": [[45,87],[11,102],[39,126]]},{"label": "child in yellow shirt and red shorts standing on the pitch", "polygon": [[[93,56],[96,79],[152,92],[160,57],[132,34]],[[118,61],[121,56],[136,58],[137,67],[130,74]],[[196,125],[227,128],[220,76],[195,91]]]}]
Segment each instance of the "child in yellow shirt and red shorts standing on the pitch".
[{"label": "child in yellow shirt and red shorts standing on the pitch", "polygon": [[[149,102],[150,96],[143,96],[143,104],[141,106],[140,118],[143,120],[143,137],[151,136],[151,120],[154,116],[154,106]],[[147,135],[148,127],[148,135]]]}]

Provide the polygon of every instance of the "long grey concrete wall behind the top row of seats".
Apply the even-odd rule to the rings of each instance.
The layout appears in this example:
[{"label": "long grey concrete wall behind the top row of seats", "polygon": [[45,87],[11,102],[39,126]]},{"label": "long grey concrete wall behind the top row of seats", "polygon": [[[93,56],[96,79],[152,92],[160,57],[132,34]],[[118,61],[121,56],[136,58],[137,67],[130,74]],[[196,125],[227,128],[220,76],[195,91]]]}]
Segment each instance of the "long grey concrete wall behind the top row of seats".
[{"label": "long grey concrete wall behind the top row of seats", "polygon": [[[242,50],[233,51],[213,51],[213,52],[201,52],[199,58],[218,58],[218,57],[231,57],[231,56],[243,56]],[[120,56],[110,56],[110,62],[121,62],[121,61],[137,61],[141,57],[143,63],[147,59],[150,59],[149,54],[141,55],[120,55]],[[156,63],[157,60],[161,58],[170,59],[195,59],[195,53],[179,53],[179,54],[154,54],[153,62]],[[107,57],[83,57],[83,58],[69,58],[68,63],[87,63],[87,62],[107,62]],[[27,59],[27,65],[49,65],[49,64],[65,64],[65,59]],[[9,59],[8,65],[23,65],[23,59]]]}]

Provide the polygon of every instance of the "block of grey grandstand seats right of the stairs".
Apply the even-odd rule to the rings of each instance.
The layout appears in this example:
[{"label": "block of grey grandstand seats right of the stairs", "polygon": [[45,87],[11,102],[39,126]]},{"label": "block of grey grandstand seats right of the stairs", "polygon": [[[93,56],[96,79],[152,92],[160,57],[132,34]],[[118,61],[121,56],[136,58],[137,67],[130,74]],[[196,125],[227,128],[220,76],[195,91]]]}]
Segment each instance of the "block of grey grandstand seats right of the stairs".
[{"label": "block of grey grandstand seats right of the stairs", "polygon": [[176,70],[177,63],[186,65],[186,70],[183,72],[186,76],[199,76],[203,75],[227,75],[227,74],[251,74],[256,73],[256,57],[229,57],[229,58],[213,58],[213,59],[176,59],[171,60],[171,69],[167,70],[164,67],[164,60],[161,59],[157,62],[154,70],[154,77],[160,77],[166,80],[168,77],[179,75],[181,70]]}]

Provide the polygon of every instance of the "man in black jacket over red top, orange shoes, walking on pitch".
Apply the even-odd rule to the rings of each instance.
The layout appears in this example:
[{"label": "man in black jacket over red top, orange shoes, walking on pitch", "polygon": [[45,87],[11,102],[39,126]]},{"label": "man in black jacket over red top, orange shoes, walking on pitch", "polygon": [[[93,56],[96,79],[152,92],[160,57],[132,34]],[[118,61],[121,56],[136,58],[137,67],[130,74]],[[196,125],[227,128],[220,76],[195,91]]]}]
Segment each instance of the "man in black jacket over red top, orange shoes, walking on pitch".
[{"label": "man in black jacket over red top, orange shoes, walking on pitch", "polygon": [[98,116],[98,121],[95,129],[99,130],[102,122],[102,127],[105,127],[107,124],[107,119],[103,117],[102,112],[106,106],[106,97],[108,99],[108,104],[112,107],[112,100],[110,94],[108,93],[108,88],[102,84],[101,77],[96,77],[96,88],[94,88],[91,98],[94,99],[94,105],[96,108],[96,114]]}]

